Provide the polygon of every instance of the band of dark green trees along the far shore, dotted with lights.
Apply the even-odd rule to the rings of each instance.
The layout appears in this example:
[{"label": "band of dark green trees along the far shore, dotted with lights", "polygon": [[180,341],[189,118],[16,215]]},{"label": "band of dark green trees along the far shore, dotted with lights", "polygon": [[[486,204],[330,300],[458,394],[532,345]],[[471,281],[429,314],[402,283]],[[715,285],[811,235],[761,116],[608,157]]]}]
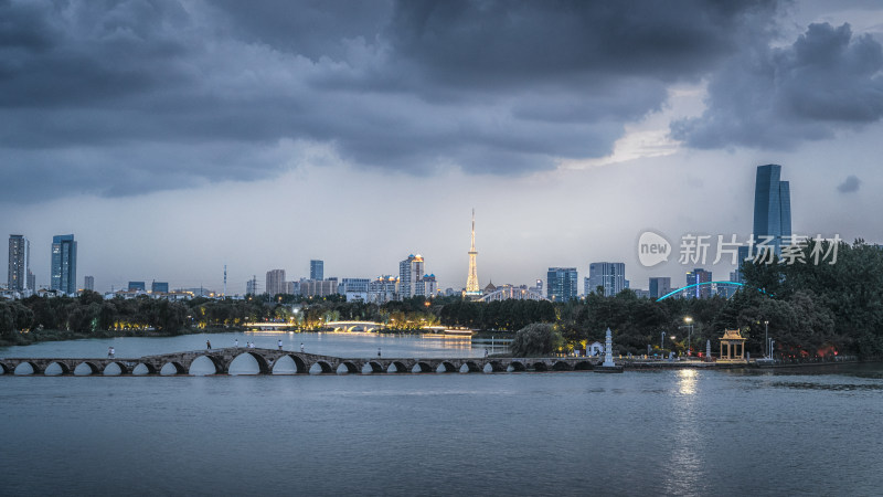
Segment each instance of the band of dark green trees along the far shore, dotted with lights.
[{"label": "band of dark green trees along the far shore, dotted with lights", "polygon": [[[0,300],[0,343],[123,336],[175,336],[245,331],[245,322],[290,322],[322,331],[325,322],[364,320],[390,332],[423,332],[425,326],[479,330],[474,338],[512,338],[513,355],[573,355],[613,331],[615,356],[696,356],[719,349],[724,329],[738,329],[745,350],[764,356],[775,340],[780,362],[883,357],[883,250],[862,240],[852,244],[810,241],[794,264],[745,262],[745,286],[726,299],[638,298],[631,290],[605,296],[599,289],[568,302],[477,303],[459,296],[414,297],[382,305],[347,303],[341,296],[302,298],[248,295],[243,299],[193,298],[169,302],[140,296],[105,299],[95,292],[77,297]],[[813,254],[837,252],[837,262],[813,264]],[[689,322],[689,325],[688,325]],[[539,328],[538,328],[539,326]],[[535,334],[542,329],[543,336]],[[663,334],[664,332],[664,334]],[[525,347],[519,342],[526,343]]]}]

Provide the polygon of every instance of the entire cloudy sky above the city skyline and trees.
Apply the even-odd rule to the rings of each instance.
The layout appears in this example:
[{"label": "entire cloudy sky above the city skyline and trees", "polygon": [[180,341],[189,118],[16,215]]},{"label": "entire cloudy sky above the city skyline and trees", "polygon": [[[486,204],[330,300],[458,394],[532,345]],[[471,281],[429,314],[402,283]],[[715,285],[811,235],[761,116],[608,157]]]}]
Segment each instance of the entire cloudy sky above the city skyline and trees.
[{"label": "entire cloudy sky above the city skyline and trees", "polygon": [[39,285],[74,233],[99,290],[409,253],[459,288],[475,208],[482,286],[647,288],[689,267],[643,230],[749,233],[774,162],[796,232],[881,242],[881,43],[877,0],[0,0],[0,233]]}]

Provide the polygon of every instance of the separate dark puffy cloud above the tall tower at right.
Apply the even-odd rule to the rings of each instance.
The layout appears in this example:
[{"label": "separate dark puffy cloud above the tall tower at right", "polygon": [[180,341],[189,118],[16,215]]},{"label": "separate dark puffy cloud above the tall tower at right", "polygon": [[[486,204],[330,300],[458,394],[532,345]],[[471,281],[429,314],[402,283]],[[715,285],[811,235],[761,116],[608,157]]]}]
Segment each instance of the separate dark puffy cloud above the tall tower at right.
[{"label": "separate dark puffy cloud above the tall tower at right", "polygon": [[672,124],[696,148],[790,148],[883,117],[883,50],[849,24],[811,24],[792,45],[755,43],[712,76],[708,109]]}]

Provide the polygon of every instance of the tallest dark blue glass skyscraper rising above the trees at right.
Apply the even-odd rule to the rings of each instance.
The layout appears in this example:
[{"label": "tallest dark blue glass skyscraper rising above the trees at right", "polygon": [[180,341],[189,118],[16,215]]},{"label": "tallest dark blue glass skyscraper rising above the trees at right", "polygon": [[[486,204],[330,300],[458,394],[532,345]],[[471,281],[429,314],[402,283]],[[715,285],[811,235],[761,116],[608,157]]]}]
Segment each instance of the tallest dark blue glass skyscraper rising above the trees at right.
[{"label": "tallest dark blue glass skyscraper rising above the trees at right", "polygon": [[781,166],[758,166],[754,184],[754,236],[772,236],[769,243],[777,254],[791,237],[791,190],[780,175]]}]

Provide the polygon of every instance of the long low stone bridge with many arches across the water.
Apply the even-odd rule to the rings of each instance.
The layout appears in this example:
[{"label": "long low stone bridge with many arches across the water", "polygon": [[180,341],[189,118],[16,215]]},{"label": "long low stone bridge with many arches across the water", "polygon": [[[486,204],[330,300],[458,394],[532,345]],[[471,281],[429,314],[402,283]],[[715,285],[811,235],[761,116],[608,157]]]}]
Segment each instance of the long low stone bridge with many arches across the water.
[{"label": "long low stone bridge with many arches across the water", "polygon": [[[0,373],[17,376],[179,376],[191,374],[196,359],[208,358],[214,374],[228,374],[237,358],[248,355],[258,374],[352,374],[426,372],[503,372],[592,370],[599,358],[371,358],[344,359],[315,353],[274,349],[226,348],[147,356],[139,359],[7,358],[0,359]],[[203,364],[206,361],[202,361]],[[211,373],[209,373],[211,374]]]}]

